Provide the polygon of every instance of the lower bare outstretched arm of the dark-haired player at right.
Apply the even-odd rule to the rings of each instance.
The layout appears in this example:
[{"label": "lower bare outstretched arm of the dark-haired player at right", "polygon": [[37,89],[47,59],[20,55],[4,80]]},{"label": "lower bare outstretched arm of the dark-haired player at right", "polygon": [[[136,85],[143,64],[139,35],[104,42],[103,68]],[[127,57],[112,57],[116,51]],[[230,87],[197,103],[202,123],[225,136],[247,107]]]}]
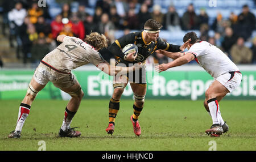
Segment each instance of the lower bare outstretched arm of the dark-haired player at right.
[{"label": "lower bare outstretched arm of the dark-haired player at right", "polygon": [[195,59],[194,54],[187,53],[184,56],[179,57],[172,62],[162,63],[161,65],[155,66],[155,70],[160,73],[160,72],[166,71],[167,69],[170,69],[172,67],[184,65],[185,63],[191,62],[193,59]]}]

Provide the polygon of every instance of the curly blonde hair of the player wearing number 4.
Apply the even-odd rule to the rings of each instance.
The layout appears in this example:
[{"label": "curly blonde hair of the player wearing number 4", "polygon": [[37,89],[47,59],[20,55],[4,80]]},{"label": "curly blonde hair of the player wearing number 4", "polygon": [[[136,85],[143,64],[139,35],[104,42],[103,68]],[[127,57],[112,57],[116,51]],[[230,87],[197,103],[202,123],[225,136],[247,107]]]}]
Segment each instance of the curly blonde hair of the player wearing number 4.
[{"label": "curly blonde hair of the player wearing number 4", "polygon": [[106,39],[106,36],[98,32],[91,32],[90,35],[86,35],[84,41],[92,45],[97,50],[100,50],[108,46],[108,40]]}]

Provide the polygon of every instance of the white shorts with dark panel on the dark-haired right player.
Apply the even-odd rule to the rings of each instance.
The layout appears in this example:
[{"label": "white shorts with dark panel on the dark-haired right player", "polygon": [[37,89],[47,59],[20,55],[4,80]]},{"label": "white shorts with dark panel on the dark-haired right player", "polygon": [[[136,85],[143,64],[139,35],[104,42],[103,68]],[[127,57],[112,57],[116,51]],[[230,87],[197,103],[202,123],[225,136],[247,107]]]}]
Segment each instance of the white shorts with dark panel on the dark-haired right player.
[{"label": "white shorts with dark panel on the dark-haired right player", "polygon": [[242,74],[240,71],[230,71],[229,73],[218,76],[215,80],[218,80],[218,82],[225,86],[231,93],[240,85]]}]

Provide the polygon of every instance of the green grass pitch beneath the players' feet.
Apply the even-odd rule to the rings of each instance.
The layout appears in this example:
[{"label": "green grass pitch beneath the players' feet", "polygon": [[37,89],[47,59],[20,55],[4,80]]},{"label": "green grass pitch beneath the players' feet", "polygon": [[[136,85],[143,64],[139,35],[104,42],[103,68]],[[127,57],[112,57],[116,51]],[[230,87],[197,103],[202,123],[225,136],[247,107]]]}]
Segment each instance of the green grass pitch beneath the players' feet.
[{"label": "green grass pitch beneath the players' feet", "polygon": [[71,124],[80,127],[81,137],[58,138],[68,101],[35,100],[22,137],[9,139],[7,135],[15,129],[20,100],[1,100],[0,150],[36,151],[40,140],[46,142],[47,151],[208,151],[211,140],[216,142],[216,150],[256,150],[256,100],[220,102],[222,117],[230,127],[220,138],[204,133],[212,119],[203,101],[191,100],[146,100],[139,117],[142,135],[135,137],[130,121],[133,102],[121,100],[114,133],[109,135],[105,131],[109,100],[82,100]]}]

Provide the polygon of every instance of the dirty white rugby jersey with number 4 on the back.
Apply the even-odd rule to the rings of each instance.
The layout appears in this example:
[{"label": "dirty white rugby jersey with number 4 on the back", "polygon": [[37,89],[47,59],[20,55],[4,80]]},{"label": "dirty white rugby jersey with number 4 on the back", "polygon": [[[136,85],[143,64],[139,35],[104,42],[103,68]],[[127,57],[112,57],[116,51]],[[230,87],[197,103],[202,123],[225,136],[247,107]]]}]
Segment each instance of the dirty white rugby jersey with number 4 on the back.
[{"label": "dirty white rugby jersey with number 4 on the back", "polygon": [[42,63],[47,63],[47,66],[63,73],[70,73],[71,70],[88,63],[98,66],[107,62],[93,46],[77,37],[65,36],[63,42],[42,59]]}]

